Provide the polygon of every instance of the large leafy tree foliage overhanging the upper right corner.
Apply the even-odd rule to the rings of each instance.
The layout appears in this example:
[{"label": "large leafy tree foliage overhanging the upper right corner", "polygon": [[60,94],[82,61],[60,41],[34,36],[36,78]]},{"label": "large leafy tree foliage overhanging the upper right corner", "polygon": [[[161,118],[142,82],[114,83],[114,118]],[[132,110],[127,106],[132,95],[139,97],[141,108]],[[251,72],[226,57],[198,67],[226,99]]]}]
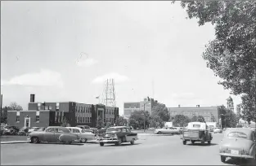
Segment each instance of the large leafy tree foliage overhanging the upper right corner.
[{"label": "large leafy tree foliage overhanging the upper right corner", "polygon": [[242,118],[255,121],[256,2],[182,1],[181,6],[186,8],[189,19],[198,19],[199,25],[215,26],[216,38],[206,46],[203,58],[222,79],[218,83],[224,89],[243,94]]}]

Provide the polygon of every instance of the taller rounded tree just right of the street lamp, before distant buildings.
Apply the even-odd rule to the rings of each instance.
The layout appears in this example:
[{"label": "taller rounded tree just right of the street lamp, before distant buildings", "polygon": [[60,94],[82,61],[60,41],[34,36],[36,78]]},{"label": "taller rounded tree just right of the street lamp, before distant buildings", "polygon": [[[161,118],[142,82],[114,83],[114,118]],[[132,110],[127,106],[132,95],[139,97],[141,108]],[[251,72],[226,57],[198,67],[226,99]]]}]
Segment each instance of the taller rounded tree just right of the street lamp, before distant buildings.
[{"label": "taller rounded tree just right of the street lamp, before distant buildings", "polygon": [[164,122],[170,120],[167,107],[161,103],[155,103],[150,117],[150,126],[155,128],[164,127]]}]

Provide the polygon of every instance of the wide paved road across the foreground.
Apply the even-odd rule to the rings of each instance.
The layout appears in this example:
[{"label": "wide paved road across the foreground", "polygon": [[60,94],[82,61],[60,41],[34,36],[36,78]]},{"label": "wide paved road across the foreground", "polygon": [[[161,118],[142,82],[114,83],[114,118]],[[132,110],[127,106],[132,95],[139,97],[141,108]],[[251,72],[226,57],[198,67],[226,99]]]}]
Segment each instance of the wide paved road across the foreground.
[{"label": "wide paved road across the foreground", "polygon": [[[186,146],[179,136],[139,136],[135,145],[99,146],[98,144],[7,144],[1,145],[1,164],[75,165],[75,164],[148,164],[148,165],[226,165],[218,155],[221,133],[213,133],[211,146]],[[235,162],[235,163],[234,163]],[[241,164],[227,160],[227,164]],[[250,164],[250,163],[242,163]]]}]

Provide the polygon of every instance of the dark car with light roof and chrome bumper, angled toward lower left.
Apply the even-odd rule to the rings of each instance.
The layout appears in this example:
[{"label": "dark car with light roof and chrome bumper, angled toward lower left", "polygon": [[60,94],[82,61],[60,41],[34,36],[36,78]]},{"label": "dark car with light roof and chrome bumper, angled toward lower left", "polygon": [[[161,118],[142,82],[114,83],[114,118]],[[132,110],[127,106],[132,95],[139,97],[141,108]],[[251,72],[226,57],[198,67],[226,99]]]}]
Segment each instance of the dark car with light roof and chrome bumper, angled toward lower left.
[{"label": "dark car with light roof and chrome bumper, angled toward lower left", "polygon": [[137,133],[132,133],[127,126],[115,126],[107,129],[104,136],[98,142],[100,146],[112,143],[120,146],[123,142],[130,142],[133,145],[136,140]]}]

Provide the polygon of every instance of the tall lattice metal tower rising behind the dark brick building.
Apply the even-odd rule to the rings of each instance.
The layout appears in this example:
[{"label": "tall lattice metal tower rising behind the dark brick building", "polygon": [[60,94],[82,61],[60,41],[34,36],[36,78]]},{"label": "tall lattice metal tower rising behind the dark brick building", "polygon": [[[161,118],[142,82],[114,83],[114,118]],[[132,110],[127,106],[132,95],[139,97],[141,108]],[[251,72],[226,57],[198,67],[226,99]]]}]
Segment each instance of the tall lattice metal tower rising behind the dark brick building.
[{"label": "tall lattice metal tower rising behind the dark brick building", "polygon": [[101,95],[101,104],[107,107],[115,107],[115,81],[114,79],[107,79],[103,94]]}]

